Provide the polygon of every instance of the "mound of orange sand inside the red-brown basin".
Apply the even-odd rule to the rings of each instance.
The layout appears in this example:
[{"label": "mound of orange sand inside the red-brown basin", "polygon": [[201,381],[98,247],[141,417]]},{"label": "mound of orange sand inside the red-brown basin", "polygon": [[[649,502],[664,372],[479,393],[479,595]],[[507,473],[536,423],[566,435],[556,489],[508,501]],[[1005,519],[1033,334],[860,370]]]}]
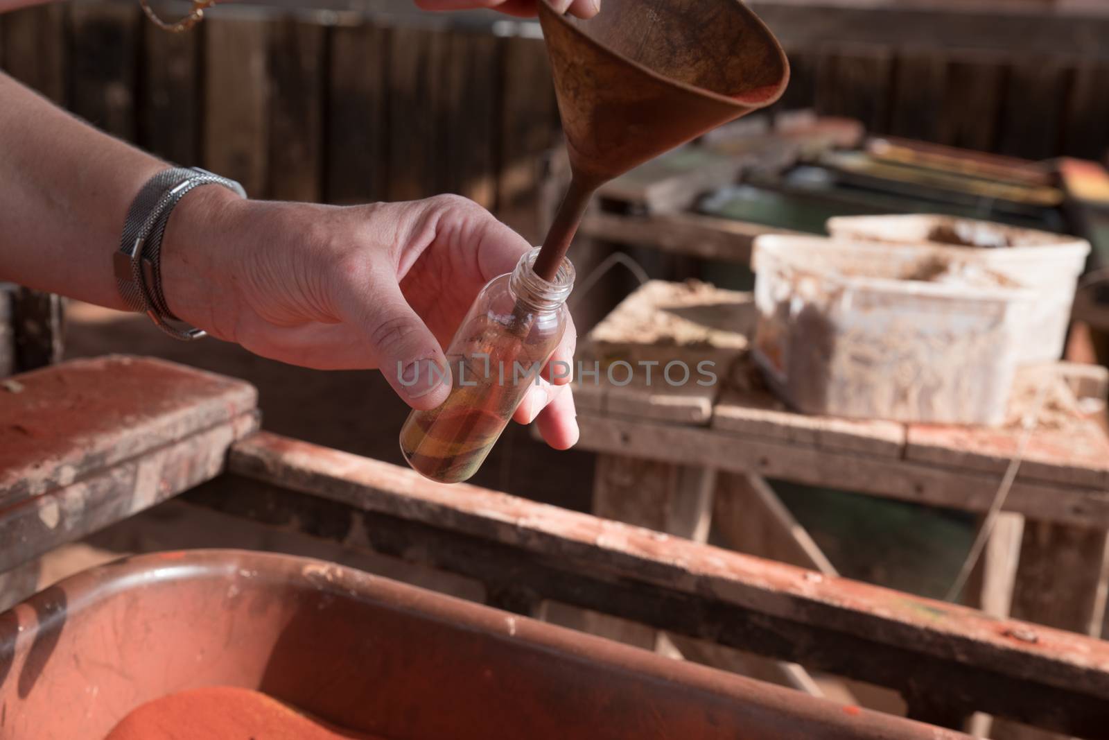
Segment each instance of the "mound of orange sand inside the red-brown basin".
[{"label": "mound of orange sand inside the red-brown basin", "polygon": [[258,691],[192,689],[147,702],[105,740],[380,740],[313,720]]}]

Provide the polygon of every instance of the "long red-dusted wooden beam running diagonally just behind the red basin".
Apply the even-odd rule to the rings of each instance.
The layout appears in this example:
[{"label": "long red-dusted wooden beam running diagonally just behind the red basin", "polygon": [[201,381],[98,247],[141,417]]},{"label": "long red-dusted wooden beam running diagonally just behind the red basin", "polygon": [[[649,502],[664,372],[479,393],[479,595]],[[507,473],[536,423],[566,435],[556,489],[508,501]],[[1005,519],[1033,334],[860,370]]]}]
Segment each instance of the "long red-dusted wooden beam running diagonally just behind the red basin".
[{"label": "long red-dusted wooden beam running diagonally just behind the red basin", "polygon": [[238,443],[230,465],[262,486],[232,479],[235,496],[213,490],[205,505],[340,540],[360,527],[377,551],[487,586],[527,585],[535,598],[930,693],[955,709],[1103,737],[1109,643],[472,486],[438,486],[274,435]]}]

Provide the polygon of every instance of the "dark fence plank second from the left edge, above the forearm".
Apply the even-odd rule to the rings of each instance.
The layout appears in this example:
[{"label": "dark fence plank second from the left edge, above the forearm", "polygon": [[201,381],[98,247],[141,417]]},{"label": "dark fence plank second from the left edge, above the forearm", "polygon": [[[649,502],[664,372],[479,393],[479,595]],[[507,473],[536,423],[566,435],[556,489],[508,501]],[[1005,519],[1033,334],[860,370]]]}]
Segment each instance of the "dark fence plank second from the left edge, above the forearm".
[{"label": "dark fence plank second from the left edge, above the forearm", "polygon": [[134,98],[141,19],[136,6],[70,6],[70,110],[125,141],[134,141],[136,133]]}]

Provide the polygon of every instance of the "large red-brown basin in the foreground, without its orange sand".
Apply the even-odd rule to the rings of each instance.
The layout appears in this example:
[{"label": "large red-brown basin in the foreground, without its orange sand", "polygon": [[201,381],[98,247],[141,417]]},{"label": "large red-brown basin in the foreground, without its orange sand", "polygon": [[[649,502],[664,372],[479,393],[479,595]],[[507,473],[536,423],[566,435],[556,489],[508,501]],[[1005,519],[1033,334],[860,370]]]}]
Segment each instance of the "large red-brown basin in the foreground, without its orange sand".
[{"label": "large red-brown basin in the foreground, without its orange sand", "polygon": [[211,686],[389,740],[966,737],[281,555],[132,558],[0,615],[0,740],[103,740]]}]

